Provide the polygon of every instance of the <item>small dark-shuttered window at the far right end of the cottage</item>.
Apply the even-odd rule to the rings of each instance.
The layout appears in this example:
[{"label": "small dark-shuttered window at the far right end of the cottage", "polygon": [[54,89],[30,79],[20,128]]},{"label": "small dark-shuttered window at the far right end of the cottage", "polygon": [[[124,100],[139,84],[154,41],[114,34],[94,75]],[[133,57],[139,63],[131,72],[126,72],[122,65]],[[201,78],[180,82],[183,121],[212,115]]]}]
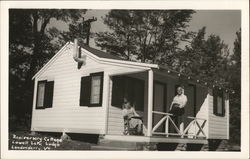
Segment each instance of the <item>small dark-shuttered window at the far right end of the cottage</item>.
[{"label": "small dark-shuttered window at the far right end of the cottage", "polygon": [[214,90],[214,114],[218,116],[225,115],[225,102],[223,97],[223,92],[219,90]]}]

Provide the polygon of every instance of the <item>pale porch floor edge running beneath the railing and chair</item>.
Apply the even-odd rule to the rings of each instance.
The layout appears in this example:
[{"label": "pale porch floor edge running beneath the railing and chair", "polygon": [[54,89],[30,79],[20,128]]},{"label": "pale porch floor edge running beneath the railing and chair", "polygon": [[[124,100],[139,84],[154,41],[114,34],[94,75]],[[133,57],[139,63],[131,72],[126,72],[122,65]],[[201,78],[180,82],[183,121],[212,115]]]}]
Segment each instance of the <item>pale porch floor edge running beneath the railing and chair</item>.
[{"label": "pale porch floor edge running beneath the railing and chair", "polygon": [[208,144],[207,139],[162,137],[162,136],[149,137],[149,136],[133,136],[133,135],[105,135],[104,139],[113,141],[125,141],[125,142]]}]

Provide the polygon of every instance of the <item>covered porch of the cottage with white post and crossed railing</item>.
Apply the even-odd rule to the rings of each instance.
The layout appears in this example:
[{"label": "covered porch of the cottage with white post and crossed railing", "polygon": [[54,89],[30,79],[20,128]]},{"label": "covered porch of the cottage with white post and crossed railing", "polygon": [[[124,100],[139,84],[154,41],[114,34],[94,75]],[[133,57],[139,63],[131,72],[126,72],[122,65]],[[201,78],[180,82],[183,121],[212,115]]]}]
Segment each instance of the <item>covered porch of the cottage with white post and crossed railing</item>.
[{"label": "covered porch of the cottage with white post and crossed railing", "polygon": [[[196,100],[196,86],[180,79],[180,75],[169,73],[167,70],[143,70],[136,72],[108,74],[108,96],[109,99],[107,109],[107,127],[105,139],[119,141],[138,141],[138,142],[163,142],[163,143],[206,143],[207,142],[207,110],[204,109],[207,105],[206,93],[201,93],[200,99]],[[115,82],[115,78],[128,76],[137,80],[143,81],[143,87],[137,82],[132,84],[136,86],[137,94],[132,94],[129,97],[135,105],[136,112],[143,118],[143,136],[123,135],[124,121],[122,115],[121,102],[114,104],[114,94],[122,94],[115,91],[116,85],[124,85],[126,89],[131,83],[126,84],[120,81]],[[176,86],[179,84],[185,85],[185,95],[188,96],[188,104],[185,107],[183,121],[176,124],[173,115],[167,113],[170,103],[175,96]],[[123,89],[125,89],[123,88]],[[142,89],[143,93],[140,90]],[[205,90],[205,89],[204,89]],[[128,90],[128,92],[133,92]],[[126,94],[126,93],[125,93]],[[138,95],[143,94],[143,95]],[[124,90],[123,90],[124,97]],[[137,100],[143,98],[143,102]],[[122,100],[122,98],[117,98]],[[117,100],[116,99],[116,100]],[[129,100],[130,100],[129,99]],[[143,108],[139,105],[143,104]],[[204,115],[205,114],[205,115]],[[180,122],[180,121],[179,121]]]}]

